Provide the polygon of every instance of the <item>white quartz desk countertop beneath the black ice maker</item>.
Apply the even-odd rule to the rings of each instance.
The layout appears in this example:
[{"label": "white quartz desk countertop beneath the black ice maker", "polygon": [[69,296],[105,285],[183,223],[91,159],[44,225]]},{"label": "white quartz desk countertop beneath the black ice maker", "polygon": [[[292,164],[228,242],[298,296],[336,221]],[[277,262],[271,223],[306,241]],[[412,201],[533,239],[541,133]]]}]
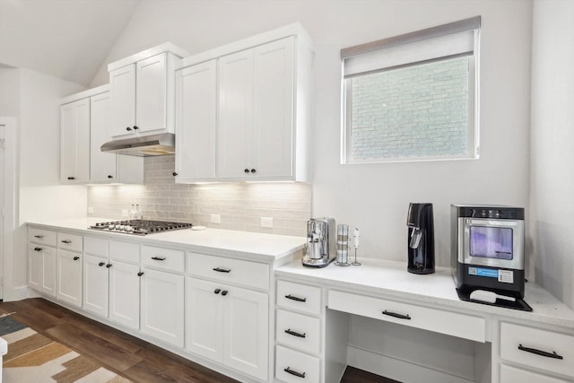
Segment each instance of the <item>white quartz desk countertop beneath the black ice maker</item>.
[{"label": "white quartz desk countertop beneath the black ice maker", "polygon": [[405,262],[359,259],[360,266],[340,267],[332,263],[323,268],[301,265],[300,259],[275,269],[277,277],[298,279],[302,283],[320,283],[345,292],[377,294],[395,300],[418,301],[439,305],[458,312],[493,314],[500,318],[518,318],[574,329],[574,311],[536,283],[526,283],[524,300],[532,312],[505,309],[459,300],[449,268],[437,267],[434,274],[418,275],[406,271]]}]

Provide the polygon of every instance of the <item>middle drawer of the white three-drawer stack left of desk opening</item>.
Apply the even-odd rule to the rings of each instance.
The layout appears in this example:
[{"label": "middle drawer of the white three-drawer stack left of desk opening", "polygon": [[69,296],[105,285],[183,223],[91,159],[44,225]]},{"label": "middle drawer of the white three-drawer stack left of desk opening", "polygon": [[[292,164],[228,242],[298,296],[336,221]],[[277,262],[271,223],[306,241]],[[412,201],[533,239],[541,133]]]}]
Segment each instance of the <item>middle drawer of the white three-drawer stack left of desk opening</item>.
[{"label": "middle drawer of the white three-drawer stack left of desk opening", "polygon": [[283,309],[277,310],[275,335],[277,342],[307,353],[320,353],[320,336],[321,321],[319,318]]}]

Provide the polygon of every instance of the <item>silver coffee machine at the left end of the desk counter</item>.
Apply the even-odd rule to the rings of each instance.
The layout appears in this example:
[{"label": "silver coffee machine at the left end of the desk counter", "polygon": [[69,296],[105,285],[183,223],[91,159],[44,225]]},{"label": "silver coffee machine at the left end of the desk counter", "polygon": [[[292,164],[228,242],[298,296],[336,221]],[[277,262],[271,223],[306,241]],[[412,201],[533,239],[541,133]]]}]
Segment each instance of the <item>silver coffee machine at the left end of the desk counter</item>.
[{"label": "silver coffee machine at the left end of the desk counter", "polygon": [[335,219],[311,218],[307,222],[307,246],[303,265],[325,267],[335,259]]}]

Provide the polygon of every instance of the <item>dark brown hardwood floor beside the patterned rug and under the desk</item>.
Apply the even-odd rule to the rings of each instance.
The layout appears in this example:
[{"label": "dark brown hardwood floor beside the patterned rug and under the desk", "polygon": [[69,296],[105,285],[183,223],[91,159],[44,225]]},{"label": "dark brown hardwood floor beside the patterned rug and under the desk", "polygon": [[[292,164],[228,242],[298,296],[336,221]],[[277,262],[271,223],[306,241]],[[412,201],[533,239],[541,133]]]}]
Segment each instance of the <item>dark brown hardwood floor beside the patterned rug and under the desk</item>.
[{"label": "dark brown hardwood floor beside the patterned rug and under the desk", "polygon": [[[0,302],[0,313],[10,312],[22,324],[100,361],[109,370],[134,382],[237,381],[48,300]],[[396,383],[352,367],[347,368],[341,382]]]}]

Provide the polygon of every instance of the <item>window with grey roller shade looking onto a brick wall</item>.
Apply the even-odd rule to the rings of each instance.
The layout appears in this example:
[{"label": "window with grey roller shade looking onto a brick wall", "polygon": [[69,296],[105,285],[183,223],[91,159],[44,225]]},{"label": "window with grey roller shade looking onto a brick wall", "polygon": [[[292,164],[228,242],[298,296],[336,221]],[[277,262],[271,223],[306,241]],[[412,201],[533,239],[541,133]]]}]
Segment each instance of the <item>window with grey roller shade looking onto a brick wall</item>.
[{"label": "window with grey roller shade looking onto a brick wall", "polygon": [[343,49],[342,162],[477,158],[479,26]]}]

